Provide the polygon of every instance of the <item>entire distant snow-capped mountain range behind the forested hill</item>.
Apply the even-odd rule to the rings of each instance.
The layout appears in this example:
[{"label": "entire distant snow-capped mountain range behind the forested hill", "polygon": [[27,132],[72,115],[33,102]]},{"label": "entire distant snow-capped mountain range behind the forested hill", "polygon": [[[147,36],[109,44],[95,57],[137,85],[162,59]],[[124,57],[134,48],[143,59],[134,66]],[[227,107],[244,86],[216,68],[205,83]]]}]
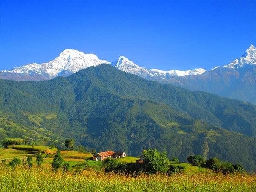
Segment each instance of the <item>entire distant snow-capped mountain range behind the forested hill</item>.
[{"label": "entire distant snow-capped mountain range behind the forested hill", "polygon": [[208,71],[202,68],[186,71],[148,70],[124,56],[120,56],[116,61],[108,62],[99,59],[94,54],[66,49],[57,58],[47,63],[33,63],[12,70],[3,70],[0,72],[0,79],[49,80],[57,76],[69,76],[81,69],[99,64],[111,64],[119,70],[147,80],[174,84],[190,90],[206,91],[256,104],[256,48],[253,45],[240,58],[222,67],[213,67]]}]

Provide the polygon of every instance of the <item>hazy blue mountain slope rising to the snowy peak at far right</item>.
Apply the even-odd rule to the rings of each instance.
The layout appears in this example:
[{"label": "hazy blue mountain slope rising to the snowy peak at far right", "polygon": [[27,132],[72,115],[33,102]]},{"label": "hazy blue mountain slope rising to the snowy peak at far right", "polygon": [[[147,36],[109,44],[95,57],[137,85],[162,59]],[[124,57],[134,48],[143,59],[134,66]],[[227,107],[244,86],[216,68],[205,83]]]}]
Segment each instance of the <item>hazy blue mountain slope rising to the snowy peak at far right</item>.
[{"label": "hazy blue mountain slope rising to the snowy peak at far right", "polygon": [[223,67],[197,76],[173,76],[168,83],[256,104],[256,48],[251,45],[242,57]]}]

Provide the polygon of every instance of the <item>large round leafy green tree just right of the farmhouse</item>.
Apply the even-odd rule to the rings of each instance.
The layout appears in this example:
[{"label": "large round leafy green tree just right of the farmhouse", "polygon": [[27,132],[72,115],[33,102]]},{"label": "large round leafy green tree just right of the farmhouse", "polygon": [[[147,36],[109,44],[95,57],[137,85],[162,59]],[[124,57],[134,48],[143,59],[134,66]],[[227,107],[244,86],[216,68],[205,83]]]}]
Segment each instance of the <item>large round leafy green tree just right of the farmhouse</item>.
[{"label": "large round leafy green tree just right of the farmhouse", "polygon": [[160,153],[156,149],[144,150],[143,159],[145,172],[167,172],[169,169],[169,159],[166,152]]}]

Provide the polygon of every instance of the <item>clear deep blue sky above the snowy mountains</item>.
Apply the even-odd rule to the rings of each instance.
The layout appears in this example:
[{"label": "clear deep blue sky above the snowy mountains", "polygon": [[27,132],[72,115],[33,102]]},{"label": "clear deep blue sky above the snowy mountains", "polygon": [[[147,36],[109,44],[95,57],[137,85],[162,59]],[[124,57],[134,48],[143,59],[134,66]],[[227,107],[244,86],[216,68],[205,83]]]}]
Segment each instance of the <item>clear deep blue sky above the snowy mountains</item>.
[{"label": "clear deep blue sky above the snowy mountains", "polygon": [[0,0],[0,70],[64,49],[161,70],[210,69],[250,44],[255,0]]}]

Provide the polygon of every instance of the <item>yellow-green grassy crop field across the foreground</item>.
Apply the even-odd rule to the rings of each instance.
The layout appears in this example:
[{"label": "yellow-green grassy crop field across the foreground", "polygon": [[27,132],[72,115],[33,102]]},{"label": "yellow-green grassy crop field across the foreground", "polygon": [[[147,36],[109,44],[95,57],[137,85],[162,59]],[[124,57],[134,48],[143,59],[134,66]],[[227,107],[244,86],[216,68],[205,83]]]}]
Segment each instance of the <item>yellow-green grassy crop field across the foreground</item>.
[{"label": "yellow-green grassy crop field across the foreground", "polygon": [[84,171],[52,172],[45,168],[0,166],[0,191],[255,191],[255,175],[140,175]]}]

